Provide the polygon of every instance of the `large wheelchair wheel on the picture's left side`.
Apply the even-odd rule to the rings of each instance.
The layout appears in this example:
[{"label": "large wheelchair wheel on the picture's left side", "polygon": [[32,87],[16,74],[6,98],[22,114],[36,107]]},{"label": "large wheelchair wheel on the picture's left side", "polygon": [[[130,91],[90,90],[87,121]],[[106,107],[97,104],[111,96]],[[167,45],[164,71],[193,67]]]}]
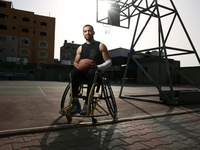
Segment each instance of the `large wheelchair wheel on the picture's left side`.
[{"label": "large wheelchair wheel on the picture's left side", "polygon": [[69,83],[63,93],[62,99],[61,99],[61,110],[60,113],[63,115],[66,115],[66,118],[69,122],[72,121],[72,117],[69,116],[70,114],[69,110],[71,107],[71,92],[70,92],[71,84]]}]

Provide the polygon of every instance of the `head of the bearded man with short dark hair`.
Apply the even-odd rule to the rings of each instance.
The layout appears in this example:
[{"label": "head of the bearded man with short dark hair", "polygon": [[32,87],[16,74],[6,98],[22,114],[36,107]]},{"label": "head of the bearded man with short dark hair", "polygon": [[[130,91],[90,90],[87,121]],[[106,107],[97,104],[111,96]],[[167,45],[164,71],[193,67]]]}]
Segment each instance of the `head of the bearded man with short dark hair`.
[{"label": "head of the bearded man with short dark hair", "polygon": [[94,37],[93,37],[94,33],[95,33],[94,28],[91,25],[87,24],[83,27],[83,35],[84,35],[86,41],[93,42],[94,41]]}]

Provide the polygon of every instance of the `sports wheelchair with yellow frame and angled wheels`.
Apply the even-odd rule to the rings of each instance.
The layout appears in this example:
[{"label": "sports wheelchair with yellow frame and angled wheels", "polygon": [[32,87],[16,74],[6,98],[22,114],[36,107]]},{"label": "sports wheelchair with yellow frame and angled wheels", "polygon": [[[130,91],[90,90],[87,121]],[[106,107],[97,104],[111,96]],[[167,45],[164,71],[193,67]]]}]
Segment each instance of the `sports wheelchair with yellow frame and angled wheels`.
[{"label": "sports wheelchair with yellow frame and angled wheels", "polygon": [[87,96],[87,92],[84,92],[87,89],[86,82],[83,82],[79,86],[79,101],[86,100],[87,101],[87,113],[86,115],[80,114],[70,114],[70,110],[72,108],[72,79],[70,76],[70,82],[67,85],[62,99],[61,99],[61,110],[60,114],[65,115],[68,122],[72,121],[72,117],[91,117],[92,123],[97,123],[97,119],[95,117],[108,116],[111,115],[113,120],[117,119],[117,105],[115,101],[115,97],[110,86],[109,81],[103,77],[103,72],[96,70],[93,84],[90,89],[89,95]]}]

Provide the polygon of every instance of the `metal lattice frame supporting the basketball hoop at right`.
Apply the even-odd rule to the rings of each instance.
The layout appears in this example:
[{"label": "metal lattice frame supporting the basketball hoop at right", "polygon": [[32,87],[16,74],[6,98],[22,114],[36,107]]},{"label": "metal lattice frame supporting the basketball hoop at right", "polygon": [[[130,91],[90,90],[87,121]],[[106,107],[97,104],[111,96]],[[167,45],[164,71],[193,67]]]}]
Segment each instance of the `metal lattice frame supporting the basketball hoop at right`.
[{"label": "metal lattice frame supporting the basketball hoop at right", "polygon": [[[97,0],[97,2],[98,2],[98,0]],[[167,2],[167,4],[165,4],[165,2]],[[191,38],[184,26],[184,23],[183,23],[172,0],[165,0],[164,3],[163,3],[163,0],[162,1],[159,1],[159,0],[132,0],[132,1],[115,0],[115,1],[112,1],[112,4],[118,6],[117,11],[120,13],[117,14],[117,17],[116,17],[116,14],[114,14],[113,16],[115,17],[115,20],[118,20],[119,22],[112,23],[111,21],[109,21],[109,19],[110,19],[109,16],[105,17],[103,19],[99,19],[97,17],[97,22],[101,22],[104,24],[112,23],[112,25],[129,28],[130,27],[130,19],[133,17],[137,18],[130,51],[135,49],[135,47],[138,44],[138,41],[140,41],[140,38],[143,35],[144,31],[147,29],[150,21],[153,19],[157,21],[157,33],[156,33],[157,34],[157,44],[155,47],[148,47],[145,49],[136,50],[132,54],[130,54],[130,57],[128,57],[128,60],[127,60],[127,66],[126,66],[126,70],[124,73],[119,97],[138,99],[137,95],[135,95],[136,97],[134,95],[133,96],[123,96],[122,95],[124,82],[125,82],[124,80],[125,80],[125,77],[127,74],[127,69],[128,69],[130,59],[133,59],[133,61],[137,64],[138,68],[141,69],[141,71],[146,75],[146,77],[154,84],[154,86],[158,89],[160,95],[163,95],[165,97],[166,103],[177,104],[177,102],[175,101],[175,96],[174,96],[174,86],[173,86],[173,82],[172,82],[171,70],[175,70],[178,74],[180,74],[185,79],[187,79],[188,82],[193,84],[198,89],[200,88],[196,83],[194,83],[189,78],[184,76],[181,72],[179,72],[175,67],[173,67],[169,63],[169,57],[188,55],[188,54],[194,54],[196,56],[197,61],[200,63],[200,58],[198,56],[198,53],[192,43],[192,40],[191,40]],[[146,19],[145,23],[143,23],[143,26],[141,28],[141,26],[139,24],[141,21],[141,16],[143,16],[143,15],[147,16],[146,17],[147,19]],[[170,18],[170,19],[168,19],[168,22],[167,22],[168,26],[166,26],[166,22],[164,21],[166,18]],[[123,23],[123,22],[126,22],[126,23]],[[143,22],[144,22],[144,20],[143,20]],[[182,28],[182,30],[186,36],[186,39],[191,47],[190,49],[174,47],[174,46],[169,45],[168,41],[169,41],[170,35],[173,31],[172,29],[174,27],[175,22],[178,22],[180,24],[180,27]],[[124,25],[124,24],[126,24],[126,25]],[[151,51],[157,51],[158,56],[155,56],[155,57],[158,58],[159,62],[165,63],[168,82],[169,82],[169,89],[170,89],[170,94],[168,94],[168,95],[165,92],[163,92],[161,85],[159,85],[158,83],[156,83],[156,81],[154,81],[154,79],[142,67],[142,65],[138,62],[138,60],[134,57],[131,57],[132,55],[148,56],[149,55],[148,53]],[[145,95],[140,95],[140,96],[144,97]],[[151,96],[151,95],[149,95],[149,96]]]}]

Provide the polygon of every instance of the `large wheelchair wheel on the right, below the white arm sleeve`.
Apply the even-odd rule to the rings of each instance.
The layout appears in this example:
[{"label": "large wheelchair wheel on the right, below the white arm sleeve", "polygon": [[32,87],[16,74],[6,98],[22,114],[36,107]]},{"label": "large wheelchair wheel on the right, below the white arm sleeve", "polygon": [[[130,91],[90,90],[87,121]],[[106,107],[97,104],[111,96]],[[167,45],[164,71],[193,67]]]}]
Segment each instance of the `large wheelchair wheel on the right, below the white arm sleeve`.
[{"label": "large wheelchair wheel on the right, below the white arm sleeve", "polygon": [[110,83],[106,78],[103,79],[103,91],[104,91],[104,96],[106,99],[108,110],[111,116],[113,117],[113,119],[117,119],[117,105],[116,105],[115,97],[114,97],[112,88],[110,86]]}]

